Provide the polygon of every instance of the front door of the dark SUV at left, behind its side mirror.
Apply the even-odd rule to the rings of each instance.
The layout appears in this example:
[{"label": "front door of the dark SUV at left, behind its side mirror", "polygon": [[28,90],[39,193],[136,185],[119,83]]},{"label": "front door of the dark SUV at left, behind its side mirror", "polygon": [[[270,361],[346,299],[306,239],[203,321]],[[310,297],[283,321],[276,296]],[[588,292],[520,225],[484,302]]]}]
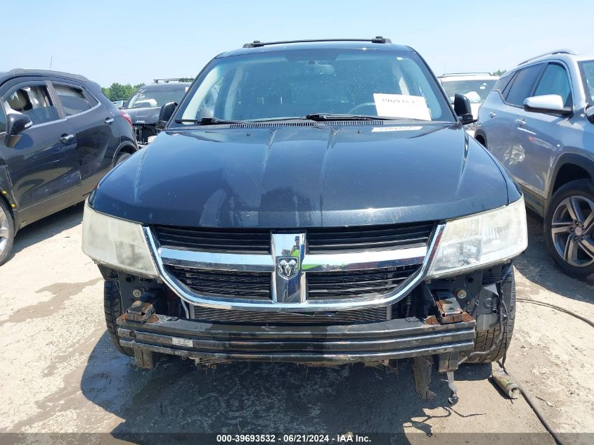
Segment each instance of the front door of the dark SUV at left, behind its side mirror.
[{"label": "front door of the dark SUV at left, behind its side mirror", "polygon": [[60,208],[58,197],[81,183],[75,141],[67,137],[66,122],[46,79],[15,79],[2,86],[0,96],[6,115],[20,112],[32,121],[14,146],[6,146],[6,138],[0,140],[16,208],[43,203],[37,217],[51,214]]}]

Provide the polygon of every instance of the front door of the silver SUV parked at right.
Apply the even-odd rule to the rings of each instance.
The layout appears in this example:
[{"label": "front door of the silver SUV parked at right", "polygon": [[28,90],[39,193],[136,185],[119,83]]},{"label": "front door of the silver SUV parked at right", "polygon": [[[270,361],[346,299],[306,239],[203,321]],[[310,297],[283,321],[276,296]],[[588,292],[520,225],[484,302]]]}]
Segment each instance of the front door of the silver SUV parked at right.
[{"label": "front door of the silver SUV parked at right", "polygon": [[[562,63],[548,63],[538,79],[531,96],[557,94],[564,106],[573,108],[572,86]],[[572,131],[572,118],[553,113],[524,111],[512,132],[512,142],[522,146],[525,162],[520,162],[514,174],[521,185],[533,193],[543,205],[547,184],[553,169],[553,160],[563,150],[562,134]],[[538,209],[541,211],[541,208]]]}]

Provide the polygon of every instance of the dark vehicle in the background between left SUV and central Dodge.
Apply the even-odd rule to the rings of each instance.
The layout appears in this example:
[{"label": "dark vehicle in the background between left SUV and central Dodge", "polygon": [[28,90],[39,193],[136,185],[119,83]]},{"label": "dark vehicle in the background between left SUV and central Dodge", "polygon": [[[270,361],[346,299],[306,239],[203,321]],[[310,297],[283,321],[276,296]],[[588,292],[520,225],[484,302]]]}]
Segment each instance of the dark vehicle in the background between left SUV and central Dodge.
[{"label": "dark vehicle in the background between left SUV and central Dodge", "polygon": [[190,88],[190,82],[180,79],[155,79],[154,84],[141,86],[124,105],[124,112],[129,115],[134,125],[136,141],[146,146],[151,136],[159,133],[159,112],[162,105],[179,103]]}]

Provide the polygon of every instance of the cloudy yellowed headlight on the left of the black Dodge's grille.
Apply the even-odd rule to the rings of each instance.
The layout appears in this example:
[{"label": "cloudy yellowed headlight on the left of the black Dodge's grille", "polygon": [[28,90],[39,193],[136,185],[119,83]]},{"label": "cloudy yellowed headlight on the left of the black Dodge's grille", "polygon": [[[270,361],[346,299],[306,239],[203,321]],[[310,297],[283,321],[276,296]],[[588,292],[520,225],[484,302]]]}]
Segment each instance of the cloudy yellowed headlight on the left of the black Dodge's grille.
[{"label": "cloudy yellowed headlight on the left of the black Dodge's grille", "polygon": [[157,276],[140,224],[108,217],[84,204],[82,251],[96,262],[116,269]]}]

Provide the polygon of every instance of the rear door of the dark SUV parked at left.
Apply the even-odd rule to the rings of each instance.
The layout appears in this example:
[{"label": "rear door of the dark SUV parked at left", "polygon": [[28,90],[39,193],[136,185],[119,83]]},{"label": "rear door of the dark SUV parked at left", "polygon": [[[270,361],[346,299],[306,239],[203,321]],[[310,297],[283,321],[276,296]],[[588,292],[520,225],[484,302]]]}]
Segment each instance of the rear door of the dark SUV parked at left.
[{"label": "rear door of the dark SUV parked at left", "polygon": [[84,193],[89,193],[112,166],[120,145],[114,114],[82,84],[52,79],[66,117],[68,133],[76,141],[76,154]]}]

